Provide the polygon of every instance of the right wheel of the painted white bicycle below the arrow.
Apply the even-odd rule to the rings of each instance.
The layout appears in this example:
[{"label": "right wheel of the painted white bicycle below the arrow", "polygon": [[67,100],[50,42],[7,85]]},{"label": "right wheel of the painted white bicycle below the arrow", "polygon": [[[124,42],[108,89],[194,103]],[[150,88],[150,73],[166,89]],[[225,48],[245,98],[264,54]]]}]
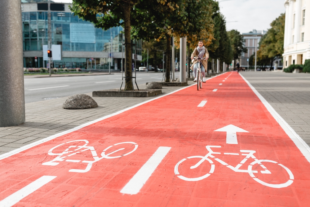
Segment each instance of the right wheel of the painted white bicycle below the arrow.
[{"label": "right wheel of the painted white bicycle below the arrow", "polygon": [[[259,167],[258,165],[261,166],[260,168],[262,170],[255,170],[257,167]],[[288,169],[283,164],[277,163],[273,160],[256,160],[252,162],[248,166],[248,173],[256,182],[273,188],[288,187],[293,183],[294,180],[294,175],[290,169]],[[257,173],[257,176],[255,176],[254,173]],[[275,176],[277,177],[275,178]]]}]

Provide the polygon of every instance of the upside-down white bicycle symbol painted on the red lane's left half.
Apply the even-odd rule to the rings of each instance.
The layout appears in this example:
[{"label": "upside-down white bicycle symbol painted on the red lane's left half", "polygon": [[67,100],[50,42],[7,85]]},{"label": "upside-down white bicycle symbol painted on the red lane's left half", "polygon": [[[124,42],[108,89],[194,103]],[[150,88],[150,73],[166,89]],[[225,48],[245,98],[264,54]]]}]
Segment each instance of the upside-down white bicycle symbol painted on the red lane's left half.
[{"label": "upside-down white bicycle symbol painted on the red lane's left half", "polygon": [[[66,143],[71,143],[71,142],[85,142],[84,145],[81,145],[81,146],[69,146],[66,150],[64,150],[63,152],[61,153],[53,153],[53,150],[55,150],[57,147],[60,147]],[[75,163],[78,163],[78,162],[81,162],[82,160],[70,160],[68,158],[70,158],[70,156],[72,155],[76,155],[80,152],[84,152],[86,150],[90,150],[91,151],[91,155],[93,156],[93,159],[92,161],[88,161],[88,160],[84,160],[82,161],[82,163],[87,163],[87,166],[86,166],[86,169],[70,169],[69,172],[76,172],[76,173],[86,173],[88,172],[90,169],[91,169],[91,166],[93,163],[105,158],[105,159],[114,159],[114,158],[119,158],[119,157],[122,157],[122,156],[126,156],[126,155],[129,155],[131,154],[132,152],[134,152],[137,148],[138,148],[138,144],[135,143],[135,142],[121,142],[121,143],[117,143],[117,144],[114,144],[114,145],[111,145],[107,148],[105,148],[103,150],[103,152],[101,153],[101,157],[99,157],[97,155],[97,152],[95,151],[95,148],[93,146],[87,146],[88,144],[88,141],[87,140],[73,140],[73,141],[70,141],[70,142],[66,142],[66,143],[62,143],[60,145],[57,145],[53,148],[51,148],[49,151],[48,151],[48,154],[49,155],[58,155],[54,160],[51,160],[51,161],[48,161],[48,162],[45,162],[45,163],[42,163],[43,165],[51,165],[51,166],[55,166],[57,164],[59,164],[59,162],[61,161],[66,161],[66,162],[75,162]],[[109,155],[112,155],[118,151],[121,151],[121,150],[125,150],[125,148],[119,148],[113,152],[110,152],[108,153],[107,155],[105,154],[105,152],[110,149],[111,147],[113,146],[118,146],[118,145],[122,145],[122,144],[132,144],[134,146],[134,149],[126,154],[123,154],[123,155],[118,155],[118,156],[109,156]],[[72,150],[73,148],[76,148],[74,150]],[[65,156],[64,156],[65,155]]]}]

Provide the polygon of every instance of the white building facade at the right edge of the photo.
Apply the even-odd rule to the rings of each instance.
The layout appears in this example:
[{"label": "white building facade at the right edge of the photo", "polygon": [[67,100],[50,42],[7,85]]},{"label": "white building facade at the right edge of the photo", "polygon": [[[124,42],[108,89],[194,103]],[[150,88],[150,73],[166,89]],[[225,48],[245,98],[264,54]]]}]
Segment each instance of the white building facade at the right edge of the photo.
[{"label": "white building facade at the right edge of the photo", "polygon": [[285,0],[283,66],[310,59],[310,0]]}]

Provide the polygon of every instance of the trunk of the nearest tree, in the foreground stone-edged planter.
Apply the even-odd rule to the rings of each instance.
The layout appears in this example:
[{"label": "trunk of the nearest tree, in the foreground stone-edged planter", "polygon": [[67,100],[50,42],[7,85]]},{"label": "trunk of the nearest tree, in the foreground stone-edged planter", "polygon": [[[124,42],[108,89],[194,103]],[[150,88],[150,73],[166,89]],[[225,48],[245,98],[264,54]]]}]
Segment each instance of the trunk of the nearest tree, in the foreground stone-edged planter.
[{"label": "trunk of the nearest tree, in the foreground stone-edged planter", "polygon": [[131,5],[128,3],[124,7],[124,25],[125,25],[125,91],[133,91],[132,84],[132,69],[131,69],[131,61],[132,61],[132,53],[131,53],[131,24],[130,24],[130,10]]}]

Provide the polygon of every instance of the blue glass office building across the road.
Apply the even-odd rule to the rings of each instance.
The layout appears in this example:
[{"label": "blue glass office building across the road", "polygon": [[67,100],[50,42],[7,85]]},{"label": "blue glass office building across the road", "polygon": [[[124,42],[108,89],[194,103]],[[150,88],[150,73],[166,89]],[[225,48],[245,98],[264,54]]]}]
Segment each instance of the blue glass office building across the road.
[{"label": "blue glass office building across the road", "polygon": [[[41,7],[37,4],[22,1],[24,67],[26,68],[43,67],[47,63],[47,61],[43,62],[42,52],[42,45],[47,45],[48,40],[47,11],[40,11]],[[63,9],[60,9],[62,11],[51,11],[51,44],[61,45],[61,60],[53,61],[53,67],[108,70],[109,55],[112,54],[111,69],[120,70],[123,28],[113,27],[106,31],[95,28],[90,22],[74,16],[69,10],[70,4],[61,5],[63,5]],[[136,61],[141,61],[141,41],[137,41],[136,45]],[[135,46],[133,46],[134,51]],[[125,57],[124,52],[123,57]]]}]

